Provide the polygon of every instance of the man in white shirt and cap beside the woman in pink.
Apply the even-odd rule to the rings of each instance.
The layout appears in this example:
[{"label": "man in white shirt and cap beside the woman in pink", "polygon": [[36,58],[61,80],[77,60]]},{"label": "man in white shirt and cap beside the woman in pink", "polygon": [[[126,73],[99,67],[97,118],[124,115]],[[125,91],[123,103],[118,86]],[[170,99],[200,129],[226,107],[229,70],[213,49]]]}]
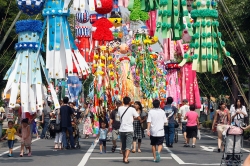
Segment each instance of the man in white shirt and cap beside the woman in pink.
[{"label": "man in white shirt and cap beside the woman in pink", "polygon": [[181,118],[182,134],[183,134],[183,137],[185,139],[185,144],[186,144],[187,143],[187,132],[186,132],[187,120],[184,120],[184,117],[186,113],[189,111],[189,103],[187,99],[184,99],[182,102],[183,102],[183,106],[180,107],[179,117]]}]

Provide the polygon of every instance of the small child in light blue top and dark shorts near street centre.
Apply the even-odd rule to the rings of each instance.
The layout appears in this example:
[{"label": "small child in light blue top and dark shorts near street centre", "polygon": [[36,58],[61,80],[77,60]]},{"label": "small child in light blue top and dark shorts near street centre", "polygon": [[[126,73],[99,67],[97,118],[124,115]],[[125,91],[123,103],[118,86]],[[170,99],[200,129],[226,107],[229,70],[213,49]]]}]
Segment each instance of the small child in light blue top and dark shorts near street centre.
[{"label": "small child in light blue top and dark shorts near street centre", "polygon": [[106,123],[101,122],[101,128],[99,129],[99,133],[96,137],[96,140],[99,139],[99,144],[100,144],[100,154],[102,154],[102,145],[104,148],[104,153],[106,153],[106,138],[108,134],[108,129],[106,128]]}]

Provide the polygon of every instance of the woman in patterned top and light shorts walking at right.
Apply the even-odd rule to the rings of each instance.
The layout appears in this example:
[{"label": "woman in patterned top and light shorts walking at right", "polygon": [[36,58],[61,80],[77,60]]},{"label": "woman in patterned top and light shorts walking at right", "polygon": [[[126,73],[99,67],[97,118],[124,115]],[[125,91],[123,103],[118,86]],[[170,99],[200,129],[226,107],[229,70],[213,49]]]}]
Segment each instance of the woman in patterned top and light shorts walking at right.
[{"label": "woman in patterned top and light shorts walking at right", "polygon": [[218,133],[218,153],[221,151],[222,145],[222,133],[227,129],[227,126],[230,125],[230,113],[226,107],[225,102],[220,102],[219,109],[215,113],[212,130],[214,131],[215,125],[217,125]]}]

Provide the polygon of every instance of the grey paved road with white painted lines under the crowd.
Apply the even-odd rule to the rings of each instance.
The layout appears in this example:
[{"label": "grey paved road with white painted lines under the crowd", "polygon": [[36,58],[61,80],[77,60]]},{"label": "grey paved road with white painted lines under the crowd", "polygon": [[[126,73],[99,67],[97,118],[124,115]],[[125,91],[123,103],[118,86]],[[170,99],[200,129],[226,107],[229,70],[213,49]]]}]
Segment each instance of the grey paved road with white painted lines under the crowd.
[{"label": "grey paved road with white painted lines under the crowd", "polygon": [[[216,152],[216,140],[212,134],[202,133],[202,139],[197,142],[196,148],[184,148],[183,137],[179,135],[179,142],[174,144],[174,148],[164,147],[161,154],[160,163],[152,162],[150,141],[148,138],[143,139],[142,153],[130,155],[130,166],[202,166],[202,165],[219,165],[222,153]],[[124,165],[119,154],[119,149],[112,153],[111,142],[107,143],[106,154],[99,154],[99,147],[93,144],[94,138],[81,139],[81,149],[78,150],[53,150],[53,140],[35,139],[32,144],[32,157],[19,157],[19,144],[15,145],[14,157],[8,158],[4,154],[8,149],[0,149],[0,166],[119,166]],[[249,147],[243,150],[244,158],[250,152]]]}]

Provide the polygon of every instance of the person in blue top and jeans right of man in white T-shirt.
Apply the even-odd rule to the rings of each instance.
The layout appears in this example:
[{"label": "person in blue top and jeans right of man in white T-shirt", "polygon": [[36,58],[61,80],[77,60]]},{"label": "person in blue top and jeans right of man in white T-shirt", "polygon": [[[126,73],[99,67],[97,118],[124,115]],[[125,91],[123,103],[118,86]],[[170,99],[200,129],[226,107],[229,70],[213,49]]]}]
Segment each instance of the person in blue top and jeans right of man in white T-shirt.
[{"label": "person in blue top and jeans right of man in white T-shirt", "polygon": [[178,109],[172,106],[173,98],[168,97],[166,105],[164,106],[164,111],[168,118],[168,125],[164,126],[166,146],[172,148],[174,142],[174,129],[175,129],[175,118]]}]

